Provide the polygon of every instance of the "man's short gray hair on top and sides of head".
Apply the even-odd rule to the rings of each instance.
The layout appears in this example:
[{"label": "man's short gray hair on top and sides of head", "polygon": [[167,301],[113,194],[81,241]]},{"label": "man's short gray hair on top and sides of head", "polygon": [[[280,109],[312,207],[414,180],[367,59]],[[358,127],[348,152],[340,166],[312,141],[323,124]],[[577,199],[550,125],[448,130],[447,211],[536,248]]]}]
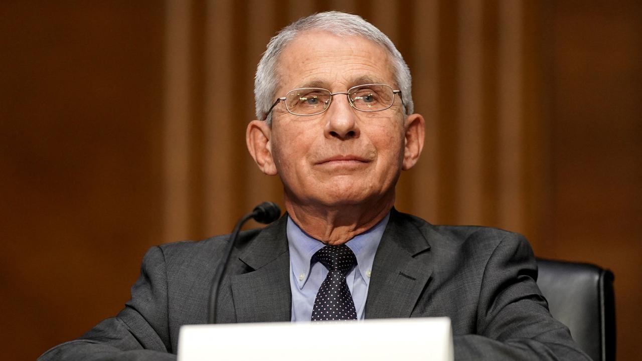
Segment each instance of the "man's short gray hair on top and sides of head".
[{"label": "man's short gray hair on top and sides of head", "polygon": [[[277,71],[279,56],[297,35],[307,30],[328,31],[340,37],[346,35],[361,36],[386,49],[390,55],[395,82],[397,82],[397,86],[403,96],[404,110],[406,114],[412,114],[412,78],[410,77],[410,69],[408,69],[408,65],[403,60],[399,50],[392,44],[392,41],[381,30],[370,24],[370,22],[363,20],[359,15],[331,11],[302,17],[283,28],[270,39],[268,47],[256,68],[256,76],[254,77],[254,101],[256,102],[257,119],[263,119],[276,99],[275,91],[279,84],[279,72]],[[272,114],[268,115],[266,121],[268,124],[272,122]]]}]

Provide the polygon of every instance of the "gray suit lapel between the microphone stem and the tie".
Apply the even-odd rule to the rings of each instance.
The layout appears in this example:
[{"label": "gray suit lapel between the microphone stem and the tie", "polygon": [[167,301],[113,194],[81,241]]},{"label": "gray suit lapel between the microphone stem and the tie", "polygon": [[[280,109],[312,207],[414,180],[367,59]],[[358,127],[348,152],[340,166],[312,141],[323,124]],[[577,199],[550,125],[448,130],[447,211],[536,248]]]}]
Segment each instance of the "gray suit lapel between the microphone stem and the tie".
[{"label": "gray suit lapel between the microphone stem and the tie", "polygon": [[290,321],[287,220],[266,227],[239,256],[254,271],[230,277],[236,322]]}]

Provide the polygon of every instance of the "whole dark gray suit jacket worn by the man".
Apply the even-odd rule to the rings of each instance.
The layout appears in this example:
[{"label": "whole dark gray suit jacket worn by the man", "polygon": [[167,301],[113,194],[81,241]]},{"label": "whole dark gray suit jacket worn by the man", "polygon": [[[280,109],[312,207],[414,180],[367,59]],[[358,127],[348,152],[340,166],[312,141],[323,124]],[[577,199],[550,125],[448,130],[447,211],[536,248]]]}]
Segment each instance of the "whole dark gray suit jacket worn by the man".
[{"label": "whole dark gray suit jacket worn by the man", "polygon": [[[39,360],[175,360],[183,324],[207,322],[211,277],[227,236],[150,249],[116,316]],[[290,321],[286,217],[240,234],[217,322]],[[392,210],[372,267],[368,319],[448,316],[457,360],[589,360],[548,312],[519,234],[435,226]]]}]

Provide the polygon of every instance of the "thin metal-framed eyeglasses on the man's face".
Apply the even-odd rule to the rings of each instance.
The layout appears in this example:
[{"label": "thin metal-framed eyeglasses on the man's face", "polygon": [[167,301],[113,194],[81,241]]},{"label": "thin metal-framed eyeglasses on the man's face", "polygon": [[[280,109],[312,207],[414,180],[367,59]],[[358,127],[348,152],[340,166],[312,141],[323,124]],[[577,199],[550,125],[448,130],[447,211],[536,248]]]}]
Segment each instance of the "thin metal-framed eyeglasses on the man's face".
[{"label": "thin metal-framed eyeglasses on the man's face", "polygon": [[270,110],[266,112],[263,120],[268,118],[268,114],[276,107],[279,101],[285,101],[285,107],[295,116],[315,116],[325,112],[332,102],[332,96],[336,94],[345,94],[348,97],[350,105],[362,112],[379,112],[392,107],[395,101],[395,94],[401,91],[395,91],[390,85],[386,84],[363,84],[351,87],[348,91],[330,92],[323,88],[300,88],[288,92],[286,96],[277,98],[272,104]]}]

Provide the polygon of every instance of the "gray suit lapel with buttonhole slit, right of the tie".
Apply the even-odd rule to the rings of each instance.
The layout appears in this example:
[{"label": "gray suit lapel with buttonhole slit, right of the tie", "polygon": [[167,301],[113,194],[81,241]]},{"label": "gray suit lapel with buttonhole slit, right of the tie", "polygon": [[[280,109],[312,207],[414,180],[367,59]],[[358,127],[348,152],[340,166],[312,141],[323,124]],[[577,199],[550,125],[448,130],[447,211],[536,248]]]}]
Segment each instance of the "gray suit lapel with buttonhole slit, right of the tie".
[{"label": "gray suit lapel with buttonhole slit, right of the tie", "polygon": [[426,236],[392,209],[372,266],[367,319],[410,317],[432,273]]}]

